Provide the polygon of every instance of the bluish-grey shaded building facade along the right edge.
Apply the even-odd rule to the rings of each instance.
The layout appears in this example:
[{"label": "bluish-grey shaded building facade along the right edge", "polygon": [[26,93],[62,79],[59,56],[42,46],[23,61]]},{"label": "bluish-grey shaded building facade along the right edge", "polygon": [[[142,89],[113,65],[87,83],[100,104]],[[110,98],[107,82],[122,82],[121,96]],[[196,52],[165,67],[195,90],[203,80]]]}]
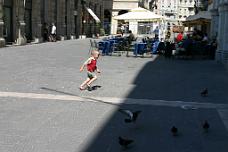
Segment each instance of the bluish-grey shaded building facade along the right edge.
[{"label": "bluish-grey shaded building facade along the right edge", "polygon": [[217,38],[216,60],[228,66],[228,1],[213,0],[211,34]]}]

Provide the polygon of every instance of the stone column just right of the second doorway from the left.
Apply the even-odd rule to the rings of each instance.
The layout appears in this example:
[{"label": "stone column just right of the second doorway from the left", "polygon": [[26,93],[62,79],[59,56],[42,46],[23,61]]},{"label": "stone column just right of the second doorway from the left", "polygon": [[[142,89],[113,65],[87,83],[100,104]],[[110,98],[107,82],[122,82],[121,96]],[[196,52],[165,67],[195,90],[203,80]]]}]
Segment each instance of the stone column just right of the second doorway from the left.
[{"label": "stone column just right of the second doorway from the left", "polygon": [[32,0],[32,36],[35,42],[42,41],[41,0]]}]

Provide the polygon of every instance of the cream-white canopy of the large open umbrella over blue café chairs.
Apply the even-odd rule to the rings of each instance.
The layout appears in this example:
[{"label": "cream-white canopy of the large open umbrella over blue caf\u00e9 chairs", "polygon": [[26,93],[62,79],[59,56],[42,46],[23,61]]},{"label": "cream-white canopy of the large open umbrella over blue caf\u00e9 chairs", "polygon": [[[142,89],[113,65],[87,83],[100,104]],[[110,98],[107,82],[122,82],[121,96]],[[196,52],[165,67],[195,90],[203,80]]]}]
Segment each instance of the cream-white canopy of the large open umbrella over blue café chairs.
[{"label": "cream-white canopy of the large open umbrella over blue caf\u00e9 chairs", "polygon": [[157,15],[154,12],[151,12],[144,8],[136,8],[130,10],[130,12],[118,15],[114,17],[115,20],[135,20],[135,21],[156,21],[156,20],[162,20],[164,19],[163,16]]}]

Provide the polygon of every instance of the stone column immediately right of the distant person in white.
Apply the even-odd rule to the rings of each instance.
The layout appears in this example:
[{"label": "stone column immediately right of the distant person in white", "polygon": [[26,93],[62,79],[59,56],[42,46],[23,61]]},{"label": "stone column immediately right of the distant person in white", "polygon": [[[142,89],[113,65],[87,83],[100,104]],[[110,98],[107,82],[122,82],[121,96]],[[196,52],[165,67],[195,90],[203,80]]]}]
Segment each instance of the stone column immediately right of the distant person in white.
[{"label": "stone column immediately right of the distant person in white", "polygon": [[60,40],[66,39],[66,24],[65,24],[65,5],[66,0],[57,1],[57,36]]}]

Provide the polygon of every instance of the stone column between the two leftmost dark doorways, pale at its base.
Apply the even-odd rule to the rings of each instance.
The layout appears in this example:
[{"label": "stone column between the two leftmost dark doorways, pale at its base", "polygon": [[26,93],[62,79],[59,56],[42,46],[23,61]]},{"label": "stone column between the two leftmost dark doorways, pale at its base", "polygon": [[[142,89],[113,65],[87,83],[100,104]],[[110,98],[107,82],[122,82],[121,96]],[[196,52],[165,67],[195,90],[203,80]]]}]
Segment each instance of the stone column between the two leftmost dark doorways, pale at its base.
[{"label": "stone column between the two leftmost dark doorways, pale at its base", "polygon": [[16,15],[16,44],[24,45],[27,42],[25,37],[24,0],[15,0],[14,9]]}]

